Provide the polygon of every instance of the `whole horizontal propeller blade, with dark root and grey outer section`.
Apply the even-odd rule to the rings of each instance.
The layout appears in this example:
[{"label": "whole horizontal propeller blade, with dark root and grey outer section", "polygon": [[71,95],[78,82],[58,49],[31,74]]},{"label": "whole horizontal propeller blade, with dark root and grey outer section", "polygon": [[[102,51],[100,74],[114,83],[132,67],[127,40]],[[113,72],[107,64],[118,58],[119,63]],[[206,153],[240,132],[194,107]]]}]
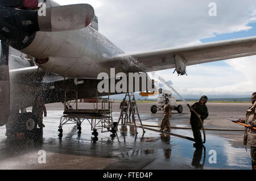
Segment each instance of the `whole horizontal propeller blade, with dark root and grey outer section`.
[{"label": "whole horizontal propeller blade, with dark root and grey outer section", "polygon": [[0,0],[0,34],[6,39],[16,40],[20,34],[32,35],[37,31],[80,30],[94,19],[94,9],[88,4],[50,7],[46,13],[41,11],[3,7]]}]

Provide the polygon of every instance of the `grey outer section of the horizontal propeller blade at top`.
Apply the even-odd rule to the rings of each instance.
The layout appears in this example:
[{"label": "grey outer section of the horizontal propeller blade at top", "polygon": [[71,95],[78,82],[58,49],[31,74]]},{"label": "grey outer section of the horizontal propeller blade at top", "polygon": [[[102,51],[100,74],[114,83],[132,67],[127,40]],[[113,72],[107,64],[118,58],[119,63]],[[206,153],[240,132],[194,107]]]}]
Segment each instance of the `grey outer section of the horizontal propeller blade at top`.
[{"label": "grey outer section of the horizontal propeller blade at top", "polygon": [[93,19],[94,9],[88,4],[57,6],[46,9],[46,16],[39,13],[38,25],[43,32],[72,31],[87,27]]}]

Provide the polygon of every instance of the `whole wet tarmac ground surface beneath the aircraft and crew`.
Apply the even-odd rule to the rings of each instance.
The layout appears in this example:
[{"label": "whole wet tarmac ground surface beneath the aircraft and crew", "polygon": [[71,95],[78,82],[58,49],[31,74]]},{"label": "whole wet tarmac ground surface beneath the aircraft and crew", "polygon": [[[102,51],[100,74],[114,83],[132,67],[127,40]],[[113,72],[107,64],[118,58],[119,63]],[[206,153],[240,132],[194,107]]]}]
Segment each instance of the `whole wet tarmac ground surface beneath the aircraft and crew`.
[{"label": "whole wet tarmac ground surface beneath the aircraft and crew", "polygon": [[[152,114],[151,105],[139,104],[143,124],[159,125],[162,112]],[[119,117],[118,106],[113,105],[114,121]],[[249,106],[208,103],[210,115],[205,128],[243,129],[226,117],[242,118]],[[123,131],[120,125],[116,137],[99,130],[95,140],[90,124],[84,121],[81,134],[73,124],[64,125],[60,139],[57,129],[63,115],[62,106],[50,104],[47,110],[42,143],[7,139],[5,127],[0,127],[0,169],[251,169],[250,147],[247,146],[246,152],[242,131],[206,131],[205,147],[195,149],[193,142],[184,138],[148,130],[143,134],[140,128],[136,136],[134,127],[126,126]],[[174,111],[171,125],[189,127],[188,109],[184,107],[181,114]],[[171,132],[193,137],[191,129]],[[46,153],[46,163],[40,163],[42,150]]]}]

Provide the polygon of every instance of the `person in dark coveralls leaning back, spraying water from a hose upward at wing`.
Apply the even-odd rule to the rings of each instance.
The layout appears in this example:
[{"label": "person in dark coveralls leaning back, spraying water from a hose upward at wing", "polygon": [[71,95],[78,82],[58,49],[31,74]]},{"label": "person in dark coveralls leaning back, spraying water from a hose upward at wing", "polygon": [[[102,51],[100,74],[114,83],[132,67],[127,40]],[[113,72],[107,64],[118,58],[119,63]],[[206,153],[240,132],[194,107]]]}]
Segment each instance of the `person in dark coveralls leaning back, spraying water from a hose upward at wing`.
[{"label": "person in dark coveralls leaning back, spraying water from a hose upward at wing", "polygon": [[[203,123],[204,123],[204,120],[207,119],[208,117],[208,108],[206,106],[207,100],[208,100],[207,96],[204,95],[200,98],[199,102],[191,106],[199,114]],[[190,124],[193,131],[193,136],[195,138],[195,144],[193,144],[193,146],[194,147],[202,146],[203,141],[202,141],[202,136],[200,132],[202,125],[200,124],[199,118],[193,111],[191,111]]]}]

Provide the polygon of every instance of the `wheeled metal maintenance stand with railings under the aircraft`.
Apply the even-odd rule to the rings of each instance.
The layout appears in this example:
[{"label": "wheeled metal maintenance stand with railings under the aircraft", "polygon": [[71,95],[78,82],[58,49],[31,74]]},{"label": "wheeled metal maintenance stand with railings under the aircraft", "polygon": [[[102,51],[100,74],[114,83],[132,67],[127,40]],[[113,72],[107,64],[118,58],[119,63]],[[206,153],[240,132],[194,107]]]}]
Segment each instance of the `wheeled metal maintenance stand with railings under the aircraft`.
[{"label": "wheeled metal maintenance stand with railings under the aircraft", "polygon": [[[93,109],[83,110],[78,108],[78,92],[76,90],[65,90],[64,112],[63,116],[61,116],[60,118],[60,125],[58,130],[60,132],[60,137],[63,136],[63,125],[76,124],[79,133],[81,133],[81,124],[86,120],[91,126],[91,131],[93,131],[92,134],[94,137],[98,136],[98,129],[101,129],[102,133],[112,132],[112,136],[115,136],[116,131],[113,126],[112,102],[110,102],[109,100],[109,95],[108,98],[101,98],[101,103],[98,103],[98,91],[97,89],[95,89],[95,91],[97,96],[96,103],[93,102]],[[69,97],[67,95],[75,95],[75,97]],[[72,108],[71,106],[69,106],[69,102],[74,100],[76,108]]]}]

